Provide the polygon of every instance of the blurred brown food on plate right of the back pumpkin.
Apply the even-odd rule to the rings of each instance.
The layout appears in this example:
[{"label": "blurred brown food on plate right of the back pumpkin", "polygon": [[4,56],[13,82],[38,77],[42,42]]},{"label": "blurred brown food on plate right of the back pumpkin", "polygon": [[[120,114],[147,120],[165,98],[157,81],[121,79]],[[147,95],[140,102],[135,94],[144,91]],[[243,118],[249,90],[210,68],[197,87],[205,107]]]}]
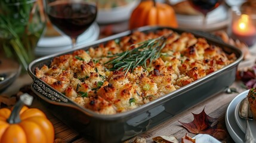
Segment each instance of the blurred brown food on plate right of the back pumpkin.
[{"label": "blurred brown food on plate right of the back pumpkin", "polygon": [[181,1],[172,5],[175,13],[184,15],[200,15],[201,13],[193,8],[188,1]]}]

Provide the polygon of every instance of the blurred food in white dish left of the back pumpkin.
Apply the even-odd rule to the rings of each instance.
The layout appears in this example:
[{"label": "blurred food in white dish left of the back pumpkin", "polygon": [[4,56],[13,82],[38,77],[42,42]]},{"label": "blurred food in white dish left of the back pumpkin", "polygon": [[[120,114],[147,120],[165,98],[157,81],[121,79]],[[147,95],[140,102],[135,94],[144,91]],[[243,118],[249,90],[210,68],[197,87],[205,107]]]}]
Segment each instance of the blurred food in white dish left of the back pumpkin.
[{"label": "blurred food in white dish left of the back pumpkin", "polygon": [[134,0],[100,0],[98,1],[98,8],[99,9],[111,9],[116,7],[122,7],[124,5],[127,5]]}]

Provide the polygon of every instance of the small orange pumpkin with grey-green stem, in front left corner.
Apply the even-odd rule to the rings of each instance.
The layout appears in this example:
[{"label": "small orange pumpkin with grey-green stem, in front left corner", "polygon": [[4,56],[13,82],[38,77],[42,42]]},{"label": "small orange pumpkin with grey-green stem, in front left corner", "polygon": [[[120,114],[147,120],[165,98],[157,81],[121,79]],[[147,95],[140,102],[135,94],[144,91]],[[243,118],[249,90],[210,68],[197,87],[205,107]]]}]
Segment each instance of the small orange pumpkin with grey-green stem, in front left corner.
[{"label": "small orange pumpkin with grey-green stem, in front left corner", "polygon": [[51,143],[54,128],[41,110],[23,107],[18,101],[13,110],[0,109],[0,142]]}]

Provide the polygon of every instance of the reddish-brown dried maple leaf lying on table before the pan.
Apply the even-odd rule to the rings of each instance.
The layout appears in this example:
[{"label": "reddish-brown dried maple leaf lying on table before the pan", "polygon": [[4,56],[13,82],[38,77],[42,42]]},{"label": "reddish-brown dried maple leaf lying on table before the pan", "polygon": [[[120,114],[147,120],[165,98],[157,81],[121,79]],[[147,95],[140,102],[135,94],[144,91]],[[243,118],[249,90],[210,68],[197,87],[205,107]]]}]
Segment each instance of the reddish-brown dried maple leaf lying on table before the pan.
[{"label": "reddish-brown dried maple leaf lying on table before the pan", "polygon": [[223,139],[226,136],[225,130],[217,129],[217,118],[208,116],[205,113],[205,108],[199,114],[194,114],[194,120],[190,123],[180,122],[181,125],[189,130],[190,133],[206,133],[212,135],[217,139]]}]

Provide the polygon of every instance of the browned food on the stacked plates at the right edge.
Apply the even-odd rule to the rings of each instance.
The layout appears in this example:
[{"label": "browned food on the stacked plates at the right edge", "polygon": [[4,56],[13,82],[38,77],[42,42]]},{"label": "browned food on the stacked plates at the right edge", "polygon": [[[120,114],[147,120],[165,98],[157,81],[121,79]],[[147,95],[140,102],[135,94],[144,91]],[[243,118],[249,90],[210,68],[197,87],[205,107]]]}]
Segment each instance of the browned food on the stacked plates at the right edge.
[{"label": "browned food on the stacked plates at the right edge", "polygon": [[251,88],[247,95],[249,105],[254,115],[254,120],[256,120],[256,88]]}]

